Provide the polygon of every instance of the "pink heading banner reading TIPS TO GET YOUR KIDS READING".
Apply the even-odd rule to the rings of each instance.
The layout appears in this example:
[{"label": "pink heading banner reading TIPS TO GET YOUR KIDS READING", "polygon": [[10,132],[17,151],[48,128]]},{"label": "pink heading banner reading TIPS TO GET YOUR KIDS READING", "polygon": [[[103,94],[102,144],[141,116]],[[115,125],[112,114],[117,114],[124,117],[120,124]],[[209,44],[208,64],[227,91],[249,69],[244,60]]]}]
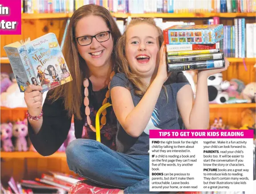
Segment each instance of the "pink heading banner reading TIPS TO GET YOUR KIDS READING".
[{"label": "pink heading banner reading TIPS TO GET YOUR KIDS READING", "polygon": [[149,138],[176,139],[250,139],[253,130],[150,130]]}]

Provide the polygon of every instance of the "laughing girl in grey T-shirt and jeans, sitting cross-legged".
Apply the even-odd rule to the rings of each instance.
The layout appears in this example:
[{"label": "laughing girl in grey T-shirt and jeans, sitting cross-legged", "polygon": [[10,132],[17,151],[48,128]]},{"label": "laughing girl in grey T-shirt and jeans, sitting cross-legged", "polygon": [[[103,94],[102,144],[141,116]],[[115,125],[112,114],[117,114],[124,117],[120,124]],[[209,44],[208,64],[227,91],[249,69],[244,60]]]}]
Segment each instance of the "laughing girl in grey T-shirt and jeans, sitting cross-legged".
[{"label": "laughing girl in grey T-shirt and jeans, sitting cross-legged", "polygon": [[149,130],[180,129],[179,113],[187,129],[207,128],[207,77],[225,69],[199,72],[194,101],[191,86],[177,81],[175,72],[167,74],[162,43],[163,32],[153,19],[132,20],[118,39],[119,72],[110,82],[118,119],[117,151],[89,139],[71,142],[70,147],[79,145],[82,152],[77,150],[69,158],[78,154],[84,158],[74,171],[98,185],[77,182],[69,193],[159,193],[149,191]]}]

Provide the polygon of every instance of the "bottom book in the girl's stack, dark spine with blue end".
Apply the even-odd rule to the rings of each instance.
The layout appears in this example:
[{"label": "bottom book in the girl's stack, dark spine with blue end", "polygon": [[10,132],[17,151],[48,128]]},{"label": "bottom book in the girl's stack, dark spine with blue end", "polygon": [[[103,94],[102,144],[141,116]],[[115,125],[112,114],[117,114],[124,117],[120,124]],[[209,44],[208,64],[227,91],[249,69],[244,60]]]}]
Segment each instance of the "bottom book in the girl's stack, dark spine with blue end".
[{"label": "bottom book in the girl's stack, dark spine with blue end", "polygon": [[225,67],[225,60],[207,60],[195,61],[189,63],[171,63],[168,64],[168,72],[171,71],[188,71],[196,69],[213,69]]}]

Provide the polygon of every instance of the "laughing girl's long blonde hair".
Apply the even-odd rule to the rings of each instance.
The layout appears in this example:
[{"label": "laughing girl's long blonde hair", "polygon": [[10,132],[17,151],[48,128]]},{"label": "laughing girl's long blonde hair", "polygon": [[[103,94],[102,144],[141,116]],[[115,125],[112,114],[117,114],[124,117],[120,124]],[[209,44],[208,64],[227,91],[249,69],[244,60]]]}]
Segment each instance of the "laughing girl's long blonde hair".
[{"label": "laughing girl's long blonde hair", "polygon": [[147,90],[147,87],[145,85],[145,83],[143,83],[142,79],[140,78],[140,76],[135,75],[134,73],[132,73],[130,71],[129,68],[129,64],[128,61],[126,59],[126,54],[125,54],[125,47],[126,47],[126,33],[127,30],[137,24],[141,24],[141,23],[146,23],[146,24],[150,24],[153,25],[159,33],[158,36],[158,42],[159,42],[159,46],[161,47],[162,43],[163,43],[163,31],[161,30],[161,28],[159,28],[154,21],[154,18],[146,18],[146,19],[142,19],[142,18],[136,18],[130,21],[130,23],[127,25],[125,32],[123,33],[123,35],[118,39],[117,42],[117,49],[116,49],[116,53],[117,53],[117,71],[118,72],[122,72],[126,75],[126,77],[129,79],[129,81],[133,84],[134,87],[134,92],[136,95],[142,97]]}]

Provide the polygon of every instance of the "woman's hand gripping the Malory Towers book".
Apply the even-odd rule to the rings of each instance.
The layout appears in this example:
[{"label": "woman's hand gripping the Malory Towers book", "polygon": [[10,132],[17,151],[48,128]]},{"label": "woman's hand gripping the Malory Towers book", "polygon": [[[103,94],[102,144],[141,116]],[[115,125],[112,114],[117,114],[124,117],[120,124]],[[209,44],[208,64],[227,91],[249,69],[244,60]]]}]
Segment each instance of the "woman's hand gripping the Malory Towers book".
[{"label": "woman's hand gripping the Malory Towers book", "polygon": [[24,92],[24,99],[28,107],[28,112],[32,116],[38,116],[41,113],[43,103],[43,94],[41,86],[28,85]]}]

